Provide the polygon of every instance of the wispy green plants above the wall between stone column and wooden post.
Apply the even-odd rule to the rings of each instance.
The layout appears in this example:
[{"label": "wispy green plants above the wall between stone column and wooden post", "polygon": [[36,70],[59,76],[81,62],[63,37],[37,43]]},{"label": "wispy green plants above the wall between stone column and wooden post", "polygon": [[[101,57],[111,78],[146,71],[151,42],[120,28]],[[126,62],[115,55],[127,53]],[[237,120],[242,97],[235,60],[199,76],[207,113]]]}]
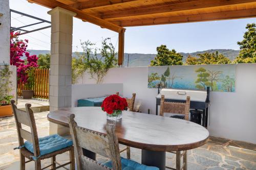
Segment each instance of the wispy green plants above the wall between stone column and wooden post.
[{"label": "wispy green plants above the wall between stone column and wooden post", "polygon": [[91,78],[95,79],[97,83],[102,83],[103,77],[109,69],[117,64],[115,47],[112,43],[107,42],[109,39],[106,38],[102,41],[101,49],[99,50],[100,56],[97,55],[98,49],[93,48],[94,43],[89,40],[81,42],[83,52],[77,53],[78,59],[72,60],[73,82],[83,71],[88,69]]}]

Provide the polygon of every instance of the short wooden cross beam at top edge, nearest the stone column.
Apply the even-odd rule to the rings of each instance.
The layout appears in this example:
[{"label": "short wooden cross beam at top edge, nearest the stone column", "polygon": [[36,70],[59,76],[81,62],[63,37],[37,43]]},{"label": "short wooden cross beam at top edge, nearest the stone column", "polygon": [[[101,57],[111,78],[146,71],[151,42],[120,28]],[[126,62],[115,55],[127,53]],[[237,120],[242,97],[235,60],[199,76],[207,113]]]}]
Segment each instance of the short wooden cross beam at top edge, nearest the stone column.
[{"label": "short wooden cross beam at top edge, nearest the stone column", "polygon": [[85,1],[85,2],[71,4],[70,6],[73,8],[77,8],[79,10],[89,9],[89,8],[96,9],[96,8],[101,8],[104,6],[120,4],[120,3],[125,3],[125,2],[131,2],[131,1],[136,1],[136,0],[89,0],[89,1]]}]

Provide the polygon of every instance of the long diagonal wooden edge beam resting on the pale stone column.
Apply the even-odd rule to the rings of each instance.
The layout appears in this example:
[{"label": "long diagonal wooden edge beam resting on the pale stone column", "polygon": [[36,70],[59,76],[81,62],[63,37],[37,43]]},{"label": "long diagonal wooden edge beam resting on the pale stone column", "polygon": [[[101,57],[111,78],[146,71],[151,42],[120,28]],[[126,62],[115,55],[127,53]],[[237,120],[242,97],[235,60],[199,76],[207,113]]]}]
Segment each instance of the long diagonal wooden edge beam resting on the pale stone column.
[{"label": "long diagonal wooden edge beam resting on the pale stone column", "polygon": [[36,4],[39,4],[39,5],[48,7],[48,8],[52,8],[52,9],[56,8],[56,7],[60,7],[60,8],[75,12],[76,13],[75,17],[77,17],[77,18],[80,18],[82,20],[86,20],[86,21],[91,22],[91,23],[93,23],[97,26],[100,26],[102,28],[106,28],[106,29],[109,29],[109,30],[112,30],[112,31],[115,31],[115,32],[118,32],[118,33],[121,33],[124,30],[124,28],[122,28],[120,26],[117,26],[117,25],[115,25],[115,24],[113,24],[109,21],[105,21],[103,19],[100,19],[98,17],[90,15],[86,12],[83,12],[83,11],[80,11],[78,9],[72,8],[68,5],[57,2],[56,0],[27,0],[27,1],[30,2],[30,3],[36,3]]}]

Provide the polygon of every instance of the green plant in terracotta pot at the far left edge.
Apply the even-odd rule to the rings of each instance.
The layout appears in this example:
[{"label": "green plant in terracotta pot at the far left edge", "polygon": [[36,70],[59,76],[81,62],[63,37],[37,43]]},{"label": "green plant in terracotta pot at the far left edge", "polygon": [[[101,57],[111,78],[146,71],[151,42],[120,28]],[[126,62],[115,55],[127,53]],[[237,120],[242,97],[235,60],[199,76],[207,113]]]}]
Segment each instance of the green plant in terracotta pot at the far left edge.
[{"label": "green plant in terracotta pot at the far left edge", "polygon": [[12,81],[10,80],[12,71],[8,65],[0,66],[0,117],[11,116],[11,99]]}]

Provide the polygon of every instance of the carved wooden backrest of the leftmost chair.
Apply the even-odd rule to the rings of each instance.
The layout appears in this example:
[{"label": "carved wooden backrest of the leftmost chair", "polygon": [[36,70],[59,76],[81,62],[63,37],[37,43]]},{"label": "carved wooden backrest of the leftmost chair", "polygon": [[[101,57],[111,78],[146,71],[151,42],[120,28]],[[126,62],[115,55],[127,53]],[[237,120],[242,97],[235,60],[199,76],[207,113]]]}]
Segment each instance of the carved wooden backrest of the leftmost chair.
[{"label": "carved wooden backrest of the leftmost chair", "polygon": [[[15,101],[11,101],[13,114],[15,117],[15,123],[18,133],[18,142],[19,146],[24,145],[24,139],[30,141],[33,143],[34,148],[34,156],[38,157],[40,155],[39,150],[39,142],[38,142],[38,135],[36,131],[36,124],[35,124],[35,118],[34,113],[31,110],[31,104],[26,104],[26,111],[17,109],[16,105],[14,105]],[[25,130],[25,128],[22,127],[22,125],[26,125],[30,128],[30,132]]]}]

